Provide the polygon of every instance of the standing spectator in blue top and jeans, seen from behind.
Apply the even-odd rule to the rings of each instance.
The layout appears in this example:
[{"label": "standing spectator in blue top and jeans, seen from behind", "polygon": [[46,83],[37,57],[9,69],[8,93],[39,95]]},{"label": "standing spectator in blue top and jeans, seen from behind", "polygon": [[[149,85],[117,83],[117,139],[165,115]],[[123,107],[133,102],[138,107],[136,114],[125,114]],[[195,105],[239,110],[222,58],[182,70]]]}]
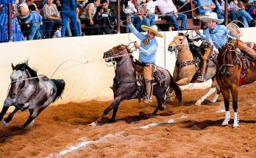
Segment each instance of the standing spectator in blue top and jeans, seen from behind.
[{"label": "standing spectator in blue top and jeans, seen from behind", "polygon": [[71,24],[74,29],[75,36],[79,36],[77,28],[77,1],[76,0],[60,0],[61,4],[61,19],[62,19],[62,29],[61,37],[65,37],[65,30],[68,25],[68,18],[71,20]]}]

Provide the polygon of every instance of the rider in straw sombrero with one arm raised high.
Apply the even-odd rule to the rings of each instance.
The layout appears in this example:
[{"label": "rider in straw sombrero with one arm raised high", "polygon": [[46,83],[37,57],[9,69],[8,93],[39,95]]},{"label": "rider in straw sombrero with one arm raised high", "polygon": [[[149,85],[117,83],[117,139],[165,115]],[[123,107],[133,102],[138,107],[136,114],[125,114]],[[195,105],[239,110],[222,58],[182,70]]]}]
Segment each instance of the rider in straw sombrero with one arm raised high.
[{"label": "rider in straw sombrero with one arm raised high", "polygon": [[157,32],[157,26],[145,26],[142,25],[141,29],[147,32],[146,35],[141,34],[135,29],[135,26],[131,23],[131,18],[127,18],[127,24],[129,29],[131,29],[132,33],[141,40],[141,45],[135,43],[135,48],[139,49],[139,60],[141,62],[145,62],[146,66],[144,66],[144,80],[146,82],[146,94],[147,96],[143,98],[143,102],[149,103],[152,102],[152,80],[153,80],[153,69],[152,66],[155,63],[155,55],[157,53],[158,43],[154,38],[163,37],[160,32]]}]

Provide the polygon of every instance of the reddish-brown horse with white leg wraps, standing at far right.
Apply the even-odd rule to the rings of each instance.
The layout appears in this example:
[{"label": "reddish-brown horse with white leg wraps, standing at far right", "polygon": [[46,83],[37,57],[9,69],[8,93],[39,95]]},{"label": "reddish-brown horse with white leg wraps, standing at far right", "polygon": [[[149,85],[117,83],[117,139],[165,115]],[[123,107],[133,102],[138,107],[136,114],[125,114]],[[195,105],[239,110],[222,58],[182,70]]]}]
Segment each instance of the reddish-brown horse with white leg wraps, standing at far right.
[{"label": "reddish-brown horse with white leg wraps, standing at far right", "polygon": [[221,87],[224,97],[225,118],[222,125],[228,125],[230,121],[230,92],[232,94],[232,107],[234,109],[233,127],[239,126],[238,117],[238,86],[247,85],[256,81],[256,62],[247,60],[244,54],[236,51],[236,43],[228,43],[218,54],[218,73],[216,80]]}]

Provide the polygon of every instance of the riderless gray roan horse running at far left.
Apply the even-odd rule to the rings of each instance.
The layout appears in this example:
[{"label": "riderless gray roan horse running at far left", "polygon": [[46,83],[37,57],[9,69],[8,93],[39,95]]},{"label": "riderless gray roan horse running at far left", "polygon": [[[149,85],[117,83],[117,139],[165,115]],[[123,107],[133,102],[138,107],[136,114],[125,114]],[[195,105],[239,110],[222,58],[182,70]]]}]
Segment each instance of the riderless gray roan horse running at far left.
[{"label": "riderless gray roan horse running at far left", "polygon": [[63,93],[65,82],[63,79],[49,79],[47,76],[38,76],[37,72],[29,68],[27,61],[13,66],[11,74],[11,87],[7,98],[4,101],[4,107],[0,113],[0,121],[10,106],[15,106],[13,112],[4,118],[5,125],[8,125],[13,115],[21,109],[29,109],[29,118],[23,127],[29,123],[33,125],[33,120],[49,104],[56,101]]}]

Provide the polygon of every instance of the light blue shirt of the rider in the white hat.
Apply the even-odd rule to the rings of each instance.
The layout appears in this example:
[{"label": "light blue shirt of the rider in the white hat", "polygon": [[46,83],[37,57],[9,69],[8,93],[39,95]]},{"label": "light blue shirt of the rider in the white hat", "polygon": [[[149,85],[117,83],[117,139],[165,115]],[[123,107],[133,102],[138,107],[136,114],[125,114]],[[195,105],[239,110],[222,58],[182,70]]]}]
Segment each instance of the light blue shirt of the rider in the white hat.
[{"label": "light blue shirt of the rider in the white hat", "polygon": [[224,25],[217,25],[214,29],[216,29],[216,33],[211,34],[210,28],[207,28],[204,34],[216,49],[221,49],[227,43],[227,39],[229,38],[227,35],[230,35],[230,30]]}]

